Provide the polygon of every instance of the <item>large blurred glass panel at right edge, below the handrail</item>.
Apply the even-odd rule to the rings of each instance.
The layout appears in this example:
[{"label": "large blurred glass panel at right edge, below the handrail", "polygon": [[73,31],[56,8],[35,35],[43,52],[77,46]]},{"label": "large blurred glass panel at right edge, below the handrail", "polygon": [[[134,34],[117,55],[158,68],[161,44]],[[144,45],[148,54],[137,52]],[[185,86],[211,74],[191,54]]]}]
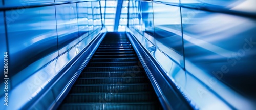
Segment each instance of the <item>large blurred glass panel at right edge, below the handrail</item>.
[{"label": "large blurred glass panel at right edge, below the handrail", "polygon": [[191,11],[182,8],[187,71],[197,77],[199,68],[237,92],[256,98],[251,87],[256,84],[255,19],[203,11],[186,16]]}]

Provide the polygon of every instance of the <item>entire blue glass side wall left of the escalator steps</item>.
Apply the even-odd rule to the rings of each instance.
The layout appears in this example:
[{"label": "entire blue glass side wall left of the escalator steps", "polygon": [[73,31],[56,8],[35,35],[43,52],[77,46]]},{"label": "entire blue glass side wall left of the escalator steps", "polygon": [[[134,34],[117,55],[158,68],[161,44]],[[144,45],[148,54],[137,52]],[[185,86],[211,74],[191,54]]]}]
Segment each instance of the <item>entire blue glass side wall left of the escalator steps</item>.
[{"label": "entire blue glass side wall left of the escalator steps", "polygon": [[[8,107],[1,103],[0,108],[20,109],[45,86],[49,87],[53,79],[58,79],[61,69],[96,38],[102,29],[100,5],[99,1],[69,4],[61,0],[4,0],[3,3],[1,8],[15,8],[0,11],[0,61],[4,62],[4,52],[8,52],[10,102]],[[4,63],[0,69],[4,70]],[[4,73],[0,78],[4,82]],[[54,102],[59,90],[54,87],[47,93],[49,102],[42,104]],[[4,90],[0,91],[1,100],[4,94]]]}]

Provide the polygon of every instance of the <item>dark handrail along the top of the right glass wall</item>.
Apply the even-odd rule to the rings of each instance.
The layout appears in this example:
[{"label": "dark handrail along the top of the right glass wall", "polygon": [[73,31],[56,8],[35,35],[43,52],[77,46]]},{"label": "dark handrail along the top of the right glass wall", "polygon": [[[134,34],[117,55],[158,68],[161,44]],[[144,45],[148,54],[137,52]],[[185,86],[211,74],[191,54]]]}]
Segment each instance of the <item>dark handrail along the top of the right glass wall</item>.
[{"label": "dark handrail along the top of the right glass wall", "polygon": [[[140,2],[150,2],[150,3],[157,3],[157,4],[165,4],[169,6],[177,6],[182,8],[194,9],[194,10],[202,10],[208,12],[217,12],[217,13],[224,13],[236,16],[243,16],[249,18],[256,18],[256,12],[244,12],[244,11],[236,11],[236,10],[229,10],[225,8],[217,7],[216,5],[207,4],[207,6],[202,6],[202,4],[181,4],[181,3],[173,3],[173,2],[162,2],[162,1],[151,1],[151,0],[135,0]],[[206,4],[206,3],[205,3]]]}]

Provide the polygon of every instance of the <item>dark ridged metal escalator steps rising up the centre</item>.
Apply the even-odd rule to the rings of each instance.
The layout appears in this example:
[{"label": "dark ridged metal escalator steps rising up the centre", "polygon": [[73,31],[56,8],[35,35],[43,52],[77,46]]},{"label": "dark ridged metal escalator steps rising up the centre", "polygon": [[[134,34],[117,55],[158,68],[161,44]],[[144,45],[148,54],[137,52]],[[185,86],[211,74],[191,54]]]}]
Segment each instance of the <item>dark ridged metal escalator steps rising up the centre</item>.
[{"label": "dark ridged metal escalator steps rising up the centre", "polygon": [[125,33],[107,33],[58,109],[162,109]]}]

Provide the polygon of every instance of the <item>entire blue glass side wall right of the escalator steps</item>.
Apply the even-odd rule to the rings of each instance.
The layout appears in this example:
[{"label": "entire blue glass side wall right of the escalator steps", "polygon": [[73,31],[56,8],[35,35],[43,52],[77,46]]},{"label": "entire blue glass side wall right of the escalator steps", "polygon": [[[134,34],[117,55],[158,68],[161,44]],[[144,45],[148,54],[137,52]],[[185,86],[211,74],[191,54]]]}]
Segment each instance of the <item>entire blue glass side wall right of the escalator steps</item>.
[{"label": "entire blue glass side wall right of the escalator steps", "polygon": [[194,108],[253,109],[255,1],[129,1],[129,29]]}]

